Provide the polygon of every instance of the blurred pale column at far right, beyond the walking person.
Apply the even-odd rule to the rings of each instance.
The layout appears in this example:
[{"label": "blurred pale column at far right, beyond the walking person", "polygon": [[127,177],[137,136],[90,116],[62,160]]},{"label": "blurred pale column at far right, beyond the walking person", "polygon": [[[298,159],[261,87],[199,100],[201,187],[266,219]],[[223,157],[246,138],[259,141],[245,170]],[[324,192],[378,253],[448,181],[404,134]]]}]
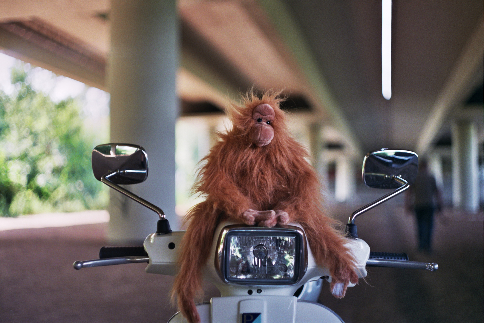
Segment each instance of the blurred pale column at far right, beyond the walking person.
[{"label": "blurred pale column at far right, beyond the walking person", "polygon": [[479,208],[477,129],[467,120],[458,120],[452,127],[452,179],[454,207],[476,212]]}]

